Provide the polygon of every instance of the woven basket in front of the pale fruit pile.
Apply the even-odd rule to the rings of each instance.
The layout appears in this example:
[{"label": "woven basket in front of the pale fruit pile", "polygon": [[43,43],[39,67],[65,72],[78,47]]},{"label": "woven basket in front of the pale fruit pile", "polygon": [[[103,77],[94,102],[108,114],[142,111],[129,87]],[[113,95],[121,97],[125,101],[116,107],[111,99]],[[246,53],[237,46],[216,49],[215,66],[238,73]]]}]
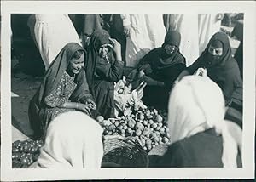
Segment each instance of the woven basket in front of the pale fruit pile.
[{"label": "woven basket in front of the pale fruit pile", "polygon": [[113,163],[121,168],[148,167],[148,154],[137,139],[105,139],[102,163]]}]

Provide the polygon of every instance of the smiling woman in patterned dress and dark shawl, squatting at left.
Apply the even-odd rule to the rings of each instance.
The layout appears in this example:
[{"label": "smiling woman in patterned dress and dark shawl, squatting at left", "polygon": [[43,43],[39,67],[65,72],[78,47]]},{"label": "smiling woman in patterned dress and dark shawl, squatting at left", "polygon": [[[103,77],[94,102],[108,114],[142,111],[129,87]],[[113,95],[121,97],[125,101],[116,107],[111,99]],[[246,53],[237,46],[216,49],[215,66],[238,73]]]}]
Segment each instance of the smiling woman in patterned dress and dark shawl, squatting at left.
[{"label": "smiling woman in patterned dress and dark shawl, squatting at left", "polygon": [[44,138],[49,122],[62,112],[79,110],[90,115],[90,109],[96,109],[82,69],[85,56],[78,43],[68,43],[46,71],[28,111],[36,138]]}]

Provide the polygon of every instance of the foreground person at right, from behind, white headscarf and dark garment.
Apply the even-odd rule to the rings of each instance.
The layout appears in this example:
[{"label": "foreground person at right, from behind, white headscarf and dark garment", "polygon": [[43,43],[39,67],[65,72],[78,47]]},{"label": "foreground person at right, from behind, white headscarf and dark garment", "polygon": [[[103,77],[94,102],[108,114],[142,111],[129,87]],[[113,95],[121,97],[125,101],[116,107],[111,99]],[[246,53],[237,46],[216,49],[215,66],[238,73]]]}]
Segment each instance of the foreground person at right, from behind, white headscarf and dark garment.
[{"label": "foreground person at right, from behind, white headscarf and dark garment", "polygon": [[241,167],[236,139],[224,121],[224,96],[208,77],[188,76],[172,89],[170,145],[157,167]]}]

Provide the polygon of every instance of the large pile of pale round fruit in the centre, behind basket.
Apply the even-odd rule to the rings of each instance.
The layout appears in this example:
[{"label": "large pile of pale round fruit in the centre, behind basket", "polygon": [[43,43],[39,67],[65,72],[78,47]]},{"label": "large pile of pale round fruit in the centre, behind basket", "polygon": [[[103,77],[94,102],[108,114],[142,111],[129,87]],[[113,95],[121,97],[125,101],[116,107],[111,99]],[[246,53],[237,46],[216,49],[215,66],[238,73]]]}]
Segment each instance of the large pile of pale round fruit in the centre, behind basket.
[{"label": "large pile of pale round fruit in the centre, behind basket", "polygon": [[130,116],[108,120],[99,116],[97,121],[104,128],[104,135],[134,136],[148,152],[156,145],[169,143],[170,133],[169,128],[166,127],[166,117],[166,111],[157,111],[152,108],[136,111]]}]

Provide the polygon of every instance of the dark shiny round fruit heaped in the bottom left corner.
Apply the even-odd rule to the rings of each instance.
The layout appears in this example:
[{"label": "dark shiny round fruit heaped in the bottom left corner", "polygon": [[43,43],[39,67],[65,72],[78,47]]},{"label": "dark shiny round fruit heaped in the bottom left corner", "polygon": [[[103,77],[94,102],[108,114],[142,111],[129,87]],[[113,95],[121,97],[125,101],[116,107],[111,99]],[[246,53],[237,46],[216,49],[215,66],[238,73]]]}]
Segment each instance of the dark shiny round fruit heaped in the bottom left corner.
[{"label": "dark shiny round fruit heaped in the bottom left corner", "polygon": [[37,161],[40,148],[44,145],[43,140],[25,141],[17,140],[12,144],[12,165],[13,168],[27,168]]}]

